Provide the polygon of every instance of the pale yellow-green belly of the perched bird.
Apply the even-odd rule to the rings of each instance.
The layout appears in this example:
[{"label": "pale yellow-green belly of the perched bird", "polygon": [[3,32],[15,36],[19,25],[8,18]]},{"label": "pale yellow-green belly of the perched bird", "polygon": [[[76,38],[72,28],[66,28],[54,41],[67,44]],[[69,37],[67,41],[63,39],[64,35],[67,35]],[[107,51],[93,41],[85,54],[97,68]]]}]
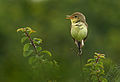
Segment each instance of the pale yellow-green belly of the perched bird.
[{"label": "pale yellow-green belly of the perched bird", "polygon": [[87,36],[87,27],[79,28],[79,27],[72,27],[71,28],[71,35],[75,40],[82,41]]}]

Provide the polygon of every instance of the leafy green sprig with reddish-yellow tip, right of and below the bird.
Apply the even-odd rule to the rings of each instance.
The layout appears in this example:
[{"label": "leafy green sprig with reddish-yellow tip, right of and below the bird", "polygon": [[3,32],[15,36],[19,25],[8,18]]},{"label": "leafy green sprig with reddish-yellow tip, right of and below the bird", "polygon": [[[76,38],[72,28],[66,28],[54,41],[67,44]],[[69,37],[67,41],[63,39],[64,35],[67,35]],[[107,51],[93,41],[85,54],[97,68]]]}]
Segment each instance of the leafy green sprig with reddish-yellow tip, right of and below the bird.
[{"label": "leafy green sprig with reddish-yellow tip, right of and below the bird", "polygon": [[95,53],[93,59],[88,59],[86,69],[89,70],[90,79],[92,82],[108,82],[105,78],[103,61],[104,54]]}]

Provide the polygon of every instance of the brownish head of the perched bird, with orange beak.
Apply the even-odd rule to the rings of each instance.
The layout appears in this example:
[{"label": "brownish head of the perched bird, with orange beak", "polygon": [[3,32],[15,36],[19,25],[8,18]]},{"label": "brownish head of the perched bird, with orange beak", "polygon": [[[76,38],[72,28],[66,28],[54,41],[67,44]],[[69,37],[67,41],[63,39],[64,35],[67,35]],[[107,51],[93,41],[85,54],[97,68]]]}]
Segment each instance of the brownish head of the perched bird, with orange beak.
[{"label": "brownish head of the perched bird, with orange beak", "polygon": [[86,21],[85,16],[80,12],[75,12],[72,15],[67,15],[66,19],[70,19],[72,23]]}]

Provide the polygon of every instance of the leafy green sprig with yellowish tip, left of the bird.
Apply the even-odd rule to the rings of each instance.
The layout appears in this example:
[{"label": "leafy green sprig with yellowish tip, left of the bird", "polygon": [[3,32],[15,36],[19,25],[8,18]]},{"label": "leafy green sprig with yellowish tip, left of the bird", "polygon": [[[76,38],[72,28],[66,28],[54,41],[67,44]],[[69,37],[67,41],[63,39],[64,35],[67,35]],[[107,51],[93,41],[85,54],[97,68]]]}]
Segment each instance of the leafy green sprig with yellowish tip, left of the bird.
[{"label": "leafy green sprig with yellowish tip, left of the bird", "polygon": [[23,56],[28,57],[29,64],[33,65],[34,68],[41,63],[49,63],[57,65],[55,60],[51,60],[51,52],[43,50],[40,46],[42,44],[42,39],[31,38],[31,34],[36,32],[30,27],[19,28],[17,32],[22,32],[23,37],[21,38],[21,43],[24,44]]}]

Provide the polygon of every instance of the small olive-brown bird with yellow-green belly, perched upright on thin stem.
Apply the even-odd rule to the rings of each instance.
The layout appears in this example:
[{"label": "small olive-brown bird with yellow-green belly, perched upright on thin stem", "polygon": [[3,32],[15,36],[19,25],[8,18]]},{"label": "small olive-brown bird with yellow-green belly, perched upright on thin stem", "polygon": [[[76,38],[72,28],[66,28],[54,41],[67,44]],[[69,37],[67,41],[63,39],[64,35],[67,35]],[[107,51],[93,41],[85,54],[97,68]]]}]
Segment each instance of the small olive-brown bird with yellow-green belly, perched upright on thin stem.
[{"label": "small olive-brown bird with yellow-green belly, perched upright on thin stem", "polygon": [[88,35],[88,24],[85,16],[80,12],[75,12],[72,15],[67,15],[66,19],[71,20],[71,35],[79,49],[79,55],[82,54],[82,47]]}]

